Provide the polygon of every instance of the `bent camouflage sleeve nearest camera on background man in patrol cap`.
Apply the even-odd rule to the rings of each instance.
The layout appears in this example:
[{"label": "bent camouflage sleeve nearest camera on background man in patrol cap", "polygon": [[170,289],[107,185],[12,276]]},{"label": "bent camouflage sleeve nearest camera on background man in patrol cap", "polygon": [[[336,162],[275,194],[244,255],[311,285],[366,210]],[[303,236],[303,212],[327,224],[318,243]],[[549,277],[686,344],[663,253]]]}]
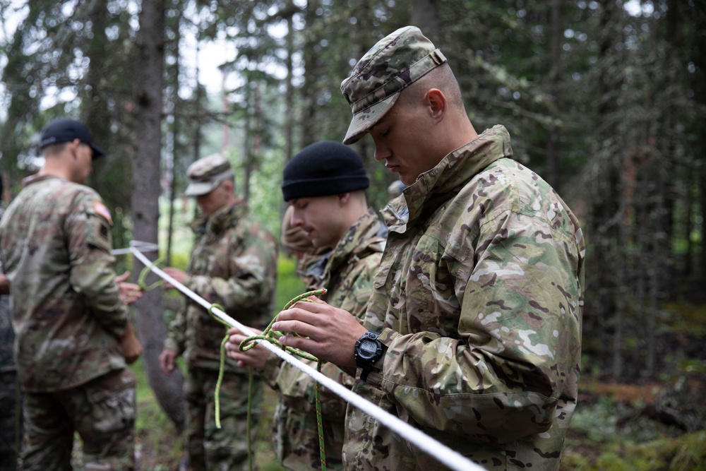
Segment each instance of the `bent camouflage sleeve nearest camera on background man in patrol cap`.
[{"label": "bent camouflage sleeve nearest camera on background man in patrol cap", "polygon": [[[240,226],[240,225],[239,225]],[[241,237],[237,247],[231,251],[228,261],[231,278],[210,275],[189,275],[184,285],[210,302],[220,304],[227,312],[244,313],[249,308],[268,305],[275,292],[277,282],[277,244],[272,234],[260,225],[238,229]],[[239,321],[258,321],[253,309],[253,318],[241,316]]]}]

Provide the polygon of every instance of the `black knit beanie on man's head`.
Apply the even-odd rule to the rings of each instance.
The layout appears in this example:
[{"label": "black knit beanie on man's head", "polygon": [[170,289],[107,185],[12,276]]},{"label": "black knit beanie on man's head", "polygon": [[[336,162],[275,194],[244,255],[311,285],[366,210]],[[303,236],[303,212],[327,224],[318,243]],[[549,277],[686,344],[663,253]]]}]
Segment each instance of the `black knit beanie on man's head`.
[{"label": "black knit beanie on man's head", "polygon": [[363,162],[347,145],[321,141],[307,145],[289,160],[282,181],[285,201],[366,189]]}]

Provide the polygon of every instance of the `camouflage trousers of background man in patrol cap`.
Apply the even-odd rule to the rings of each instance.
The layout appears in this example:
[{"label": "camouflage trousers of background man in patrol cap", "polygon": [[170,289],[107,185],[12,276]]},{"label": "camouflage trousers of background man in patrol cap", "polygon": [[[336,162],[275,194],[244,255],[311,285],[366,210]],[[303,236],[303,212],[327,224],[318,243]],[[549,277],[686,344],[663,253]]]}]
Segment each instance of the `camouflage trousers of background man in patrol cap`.
[{"label": "camouflage trousers of background man in patrol cap", "polygon": [[[189,369],[186,395],[186,438],[192,471],[248,470],[248,376],[226,372],[220,387],[221,428],[215,423],[218,371]],[[263,398],[261,379],[253,381],[251,436],[257,438]],[[254,456],[253,456],[254,461]]]}]

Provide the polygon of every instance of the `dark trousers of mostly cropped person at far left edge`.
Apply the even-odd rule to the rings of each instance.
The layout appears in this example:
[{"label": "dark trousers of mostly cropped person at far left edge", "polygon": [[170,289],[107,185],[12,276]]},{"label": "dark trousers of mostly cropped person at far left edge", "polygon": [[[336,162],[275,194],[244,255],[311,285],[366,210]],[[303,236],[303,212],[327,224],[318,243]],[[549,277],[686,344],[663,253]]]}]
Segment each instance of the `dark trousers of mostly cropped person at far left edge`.
[{"label": "dark trousers of mostly cropped person at far left edge", "polygon": [[22,435],[22,394],[14,371],[0,373],[0,471],[15,471]]}]

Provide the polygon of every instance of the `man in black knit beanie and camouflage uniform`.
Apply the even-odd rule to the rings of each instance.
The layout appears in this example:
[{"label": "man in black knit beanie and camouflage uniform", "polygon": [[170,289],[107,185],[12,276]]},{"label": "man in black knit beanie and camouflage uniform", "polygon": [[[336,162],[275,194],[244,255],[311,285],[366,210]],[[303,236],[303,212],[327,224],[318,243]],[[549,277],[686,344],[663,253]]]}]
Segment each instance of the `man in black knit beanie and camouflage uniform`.
[{"label": "man in black knit beanie and camouflage uniform", "polygon": [[[342,143],[321,141],[294,155],[283,177],[282,196],[292,211],[292,226],[300,227],[315,249],[330,250],[317,263],[323,264],[323,275],[311,288],[326,288],[328,292],[321,299],[362,321],[387,234],[380,218],[367,205],[365,189],[370,182],[363,162]],[[280,463],[289,470],[322,469],[314,381],[280,362],[264,347],[240,352],[244,336],[235,329],[230,333],[229,355],[262,369],[265,381],[277,390],[280,401],[274,426]],[[335,364],[323,365],[322,373],[348,387],[354,381]],[[322,391],[326,469],[343,469],[345,407],[345,401],[337,395]]]}]

